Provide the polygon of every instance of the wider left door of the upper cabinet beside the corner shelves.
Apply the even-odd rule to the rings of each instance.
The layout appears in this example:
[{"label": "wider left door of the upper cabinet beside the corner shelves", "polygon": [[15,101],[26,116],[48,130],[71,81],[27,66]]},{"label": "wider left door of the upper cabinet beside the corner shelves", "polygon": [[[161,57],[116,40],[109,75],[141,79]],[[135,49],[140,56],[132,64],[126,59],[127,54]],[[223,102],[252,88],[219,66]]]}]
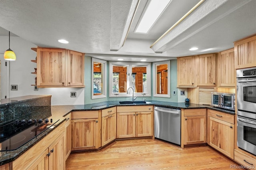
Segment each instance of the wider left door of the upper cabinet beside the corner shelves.
[{"label": "wider left door of the upper cabinet beside the corner shelves", "polygon": [[60,87],[66,85],[65,49],[37,49],[37,86]]}]

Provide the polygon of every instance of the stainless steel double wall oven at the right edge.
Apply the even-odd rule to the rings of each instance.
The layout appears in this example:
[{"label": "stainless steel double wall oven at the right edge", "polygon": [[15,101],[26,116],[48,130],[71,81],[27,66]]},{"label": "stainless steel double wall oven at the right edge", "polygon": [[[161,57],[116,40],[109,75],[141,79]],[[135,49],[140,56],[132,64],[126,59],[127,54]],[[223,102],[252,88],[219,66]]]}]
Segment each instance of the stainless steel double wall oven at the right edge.
[{"label": "stainless steel double wall oven at the right edge", "polygon": [[237,145],[256,155],[256,67],[236,71]]}]

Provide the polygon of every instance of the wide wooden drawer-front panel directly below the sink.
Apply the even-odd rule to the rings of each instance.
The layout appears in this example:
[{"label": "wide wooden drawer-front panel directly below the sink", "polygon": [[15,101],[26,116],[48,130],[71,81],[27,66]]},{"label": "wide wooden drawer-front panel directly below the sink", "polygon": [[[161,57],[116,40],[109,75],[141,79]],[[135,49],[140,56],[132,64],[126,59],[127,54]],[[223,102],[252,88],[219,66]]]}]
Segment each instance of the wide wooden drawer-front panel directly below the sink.
[{"label": "wide wooden drawer-front panel directly below the sink", "polygon": [[118,106],[116,107],[116,112],[145,112],[153,111],[152,105],[146,106]]}]

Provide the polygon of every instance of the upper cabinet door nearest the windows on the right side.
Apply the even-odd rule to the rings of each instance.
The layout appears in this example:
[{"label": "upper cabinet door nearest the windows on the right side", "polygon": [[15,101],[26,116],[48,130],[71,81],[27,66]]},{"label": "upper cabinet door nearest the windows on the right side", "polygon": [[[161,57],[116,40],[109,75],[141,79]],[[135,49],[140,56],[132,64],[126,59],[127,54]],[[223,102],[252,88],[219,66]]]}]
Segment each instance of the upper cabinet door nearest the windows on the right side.
[{"label": "upper cabinet door nearest the windows on the right side", "polygon": [[178,86],[196,86],[196,56],[177,58]]}]

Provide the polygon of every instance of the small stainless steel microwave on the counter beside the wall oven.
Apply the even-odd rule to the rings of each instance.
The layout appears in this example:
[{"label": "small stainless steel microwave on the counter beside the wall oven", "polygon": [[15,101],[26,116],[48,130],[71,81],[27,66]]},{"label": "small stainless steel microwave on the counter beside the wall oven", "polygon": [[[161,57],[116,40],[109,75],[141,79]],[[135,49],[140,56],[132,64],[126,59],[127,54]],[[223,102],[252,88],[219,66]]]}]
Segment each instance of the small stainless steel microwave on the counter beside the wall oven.
[{"label": "small stainless steel microwave on the counter beside the wall oven", "polygon": [[235,94],[212,92],[212,106],[235,110]]}]

